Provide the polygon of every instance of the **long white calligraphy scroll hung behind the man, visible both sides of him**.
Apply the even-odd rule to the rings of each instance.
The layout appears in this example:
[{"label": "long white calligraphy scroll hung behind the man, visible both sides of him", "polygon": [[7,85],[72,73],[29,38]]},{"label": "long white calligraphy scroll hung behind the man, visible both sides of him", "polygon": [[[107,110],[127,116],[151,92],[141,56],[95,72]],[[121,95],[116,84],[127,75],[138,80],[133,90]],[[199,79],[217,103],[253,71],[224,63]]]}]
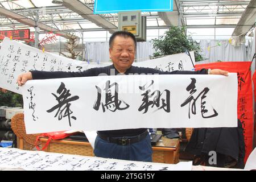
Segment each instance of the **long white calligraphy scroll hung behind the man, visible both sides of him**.
[{"label": "long white calligraphy scroll hung behind the man, visible both sides of him", "polygon": [[[194,53],[191,52],[195,64]],[[86,63],[67,57],[43,52],[26,44],[5,38],[0,49],[0,88],[21,93],[16,84],[18,75],[30,70],[39,71],[84,71],[94,67],[105,67],[108,63]],[[193,64],[186,53],[134,63],[138,67],[155,68],[161,71],[192,70]]]}]

